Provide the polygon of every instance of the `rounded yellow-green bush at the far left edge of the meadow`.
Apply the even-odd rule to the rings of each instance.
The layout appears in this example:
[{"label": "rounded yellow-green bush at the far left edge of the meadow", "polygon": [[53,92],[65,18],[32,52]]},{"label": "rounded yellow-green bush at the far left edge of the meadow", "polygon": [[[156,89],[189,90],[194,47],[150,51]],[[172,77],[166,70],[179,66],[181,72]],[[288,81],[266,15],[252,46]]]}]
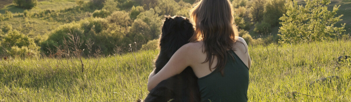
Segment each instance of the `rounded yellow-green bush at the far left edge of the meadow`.
[{"label": "rounded yellow-green bush at the far left edge of the meadow", "polygon": [[34,43],[33,39],[17,30],[8,31],[6,35],[1,37],[0,44],[11,56],[39,55],[40,47]]}]

